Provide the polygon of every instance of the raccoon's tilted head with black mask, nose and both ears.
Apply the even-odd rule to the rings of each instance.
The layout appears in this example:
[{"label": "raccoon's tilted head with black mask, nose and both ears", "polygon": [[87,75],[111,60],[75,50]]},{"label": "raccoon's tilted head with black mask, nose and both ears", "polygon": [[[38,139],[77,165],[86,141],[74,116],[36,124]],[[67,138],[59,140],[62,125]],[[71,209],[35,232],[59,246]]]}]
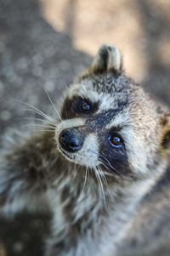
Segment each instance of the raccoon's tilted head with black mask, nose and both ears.
[{"label": "raccoon's tilted head with black mask, nose and both ears", "polygon": [[92,66],[65,92],[60,114],[55,138],[68,161],[108,175],[139,177],[164,168],[170,122],[124,74],[116,47],[99,48]]}]

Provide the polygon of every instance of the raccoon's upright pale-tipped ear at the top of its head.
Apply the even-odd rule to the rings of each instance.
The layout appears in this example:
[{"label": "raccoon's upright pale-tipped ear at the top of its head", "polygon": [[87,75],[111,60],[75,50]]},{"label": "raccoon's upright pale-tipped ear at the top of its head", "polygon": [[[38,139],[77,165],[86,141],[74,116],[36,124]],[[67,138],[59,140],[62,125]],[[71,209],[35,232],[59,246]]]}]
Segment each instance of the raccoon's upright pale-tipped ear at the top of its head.
[{"label": "raccoon's upright pale-tipped ear at the top of its head", "polygon": [[122,56],[116,46],[103,44],[94,58],[90,68],[91,73],[103,73],[106,71],[122,71]]}]

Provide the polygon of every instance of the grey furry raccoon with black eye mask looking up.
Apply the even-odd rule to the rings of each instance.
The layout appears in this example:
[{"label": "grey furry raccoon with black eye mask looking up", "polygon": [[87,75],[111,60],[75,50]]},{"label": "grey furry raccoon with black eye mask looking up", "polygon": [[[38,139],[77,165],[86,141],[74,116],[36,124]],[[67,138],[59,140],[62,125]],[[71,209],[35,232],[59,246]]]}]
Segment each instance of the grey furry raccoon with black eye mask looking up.
[{"label": "grey furry raccoon with black eye mask looking up", "polygon": [[49,131],[3,147],[1,213],[50,211],[46,256],[156,255],[170,230],[168,110],[105,44],[59,106]]}]

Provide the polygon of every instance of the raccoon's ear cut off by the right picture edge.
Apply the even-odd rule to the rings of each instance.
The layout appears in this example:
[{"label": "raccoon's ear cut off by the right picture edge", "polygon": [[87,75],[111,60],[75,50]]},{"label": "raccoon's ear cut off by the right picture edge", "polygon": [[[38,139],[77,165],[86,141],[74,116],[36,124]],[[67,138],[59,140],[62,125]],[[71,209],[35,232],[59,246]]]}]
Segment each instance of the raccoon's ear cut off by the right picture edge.
[{"label": "raccoon's ear cut off by the right picture edge", "polygon": [[161,145],[167,153],[170,153],[170,114],[161,117],[162,140]]}]

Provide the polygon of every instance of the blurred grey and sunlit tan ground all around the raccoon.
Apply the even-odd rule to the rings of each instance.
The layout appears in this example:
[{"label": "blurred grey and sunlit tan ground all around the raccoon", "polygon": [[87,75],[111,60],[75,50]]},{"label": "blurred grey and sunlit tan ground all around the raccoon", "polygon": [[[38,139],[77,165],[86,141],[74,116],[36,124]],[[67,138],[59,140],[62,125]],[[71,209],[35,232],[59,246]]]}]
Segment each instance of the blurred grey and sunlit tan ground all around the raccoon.
[{"label": "blurred grey and sunlit tan ground all around the raccoon", "polygon": [[[0,136],[23,129],[16,99],[51,111],[42,87],[57,102],[102,43],[116,44],[127,75],[170,105],[169,0],[0,0]],[[49,221],[0,219],[0,256],[42,255]]]}]

